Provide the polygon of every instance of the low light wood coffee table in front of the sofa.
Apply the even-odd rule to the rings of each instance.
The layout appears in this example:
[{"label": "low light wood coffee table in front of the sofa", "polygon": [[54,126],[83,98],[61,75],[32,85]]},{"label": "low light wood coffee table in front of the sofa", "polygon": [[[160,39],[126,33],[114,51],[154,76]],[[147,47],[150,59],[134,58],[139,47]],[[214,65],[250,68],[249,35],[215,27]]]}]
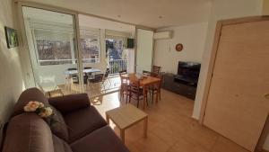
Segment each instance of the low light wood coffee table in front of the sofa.
[{"label": "low light wood coffee table in front of the sofa", "polygon": [[110,119],[117,125],[123,143],[125,143],[125,130],[139,121],[143,121],[143,137],[147,137],[148,114],[137,109],[132,104],[126,104],[106,112],[106,118],[108,124]]}]

